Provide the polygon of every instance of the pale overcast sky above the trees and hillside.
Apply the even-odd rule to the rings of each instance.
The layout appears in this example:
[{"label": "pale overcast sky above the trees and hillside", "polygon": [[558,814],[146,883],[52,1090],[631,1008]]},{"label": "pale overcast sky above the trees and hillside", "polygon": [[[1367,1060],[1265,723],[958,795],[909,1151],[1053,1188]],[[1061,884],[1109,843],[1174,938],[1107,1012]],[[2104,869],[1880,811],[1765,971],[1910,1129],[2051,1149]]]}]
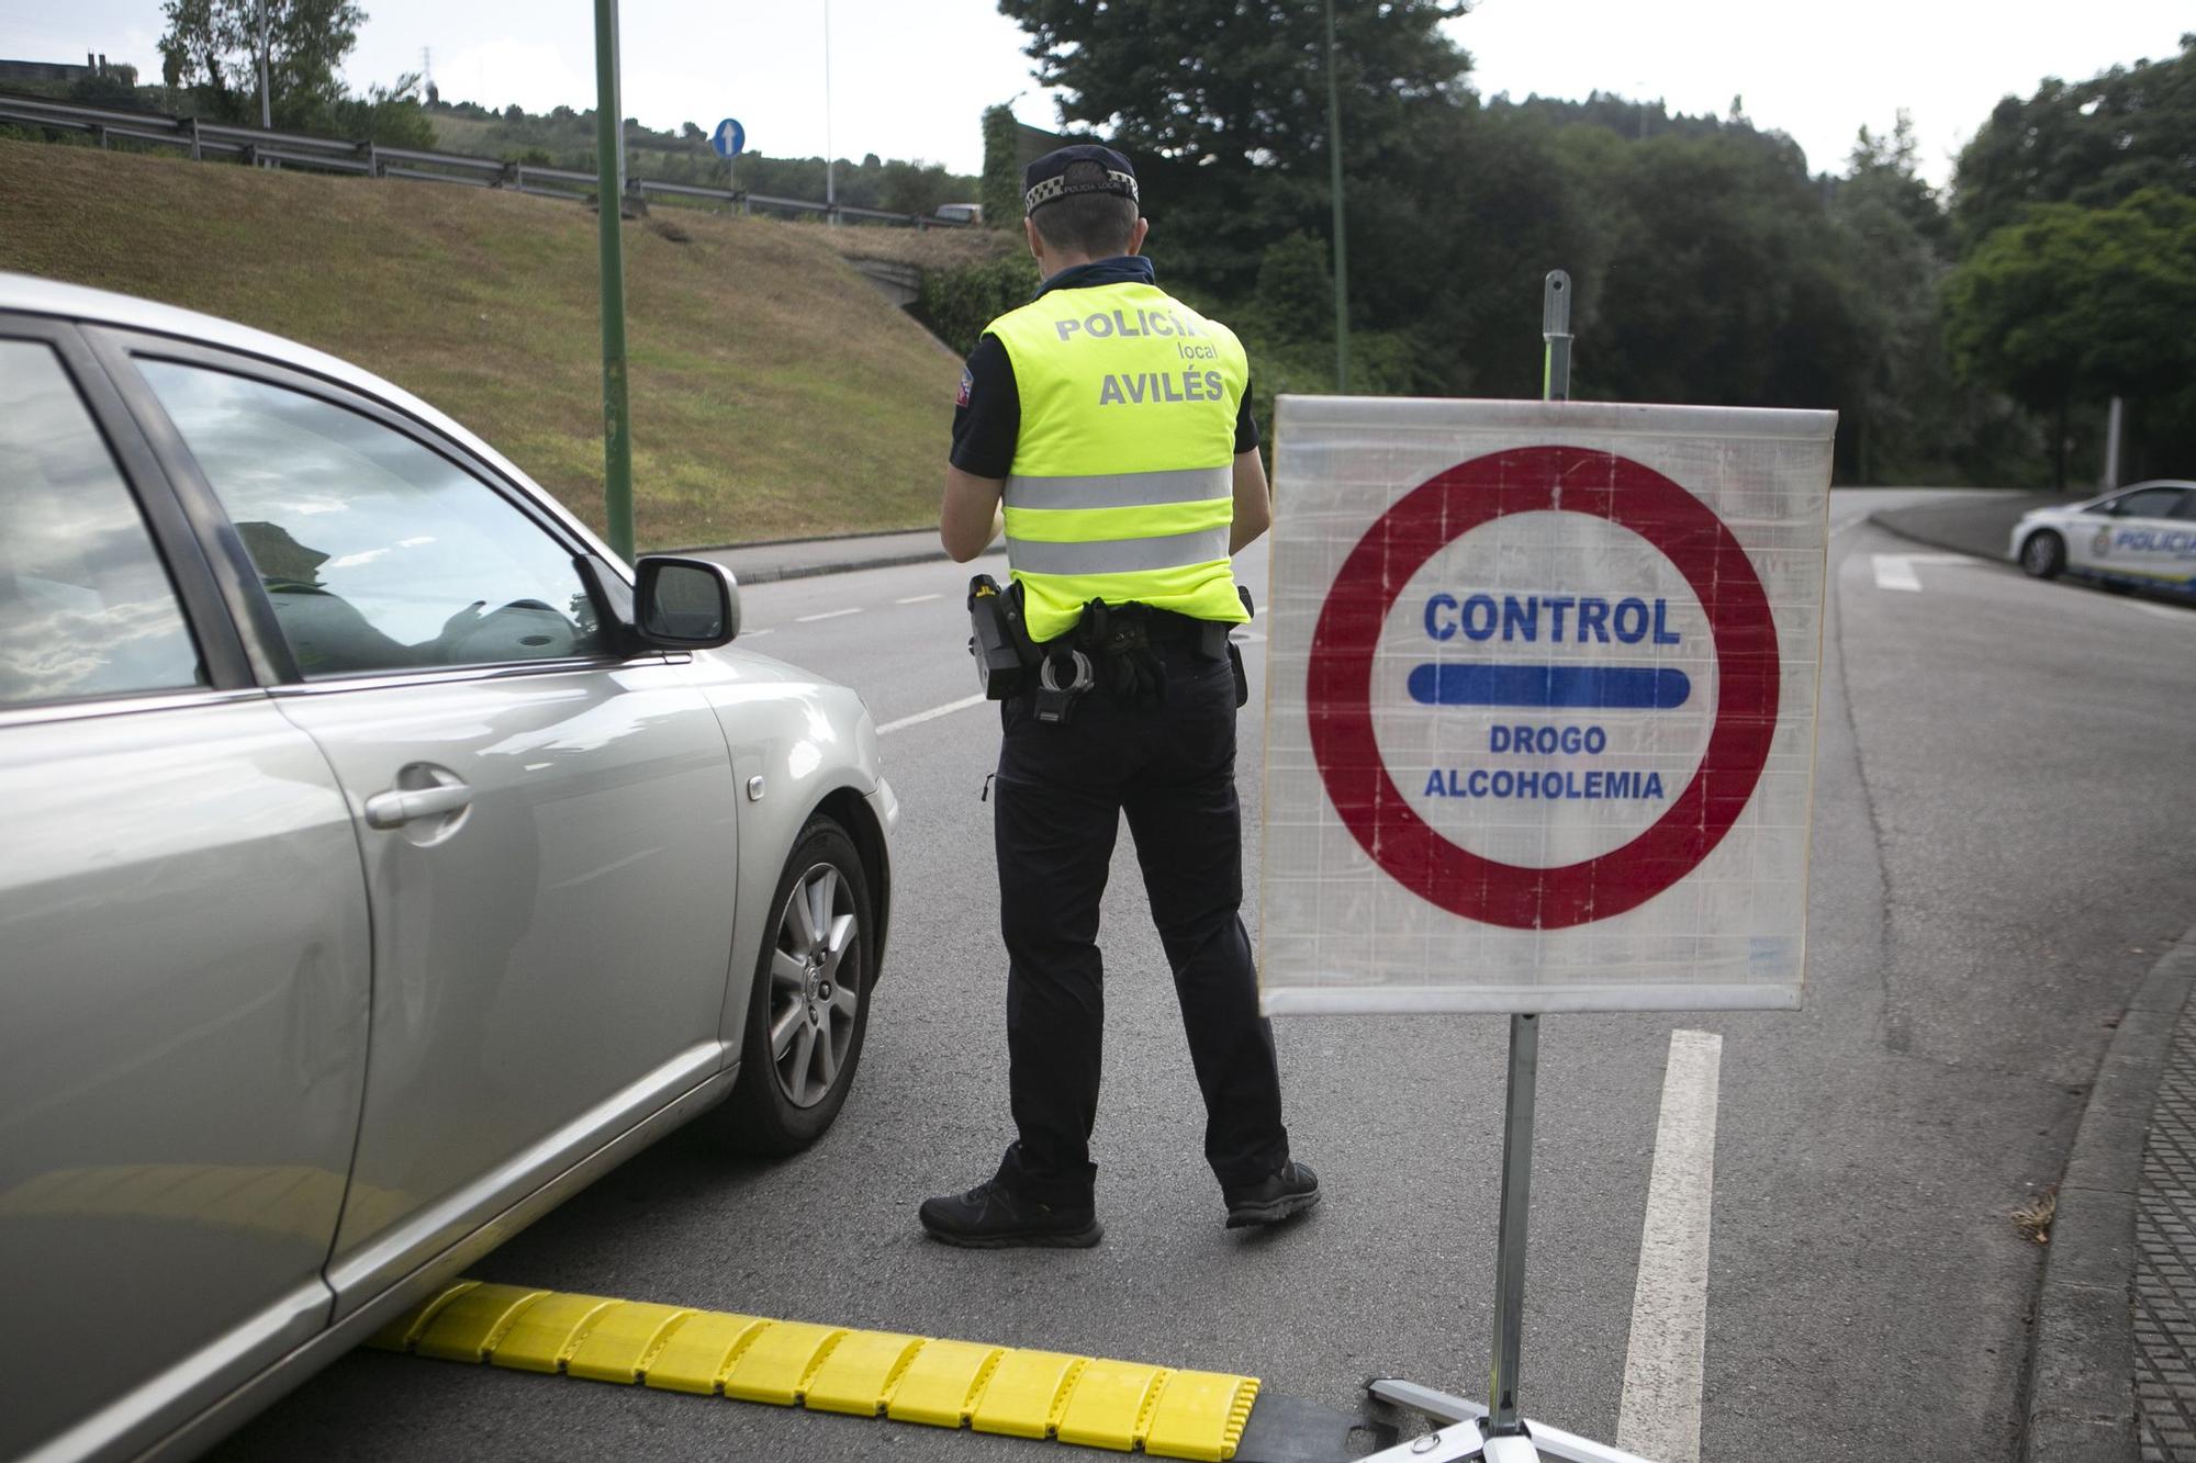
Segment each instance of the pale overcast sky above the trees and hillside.
[{"label": "pale overcast sky above the trees and hillside", "polygon": [[[1309,2],[1309,0],[1307,0]],[[1362,4],[1366,0],[1337,0]],[[446,99],[545,112],[595,101],[589,0],[362,0],[349,81],[419,70]],[[626,114],[652,127],[738,116],[749,147],[826,149],[826,0],[624,0]],[[828,0],[830,147],[982,165],[977,116],[1054,121],[1021,31],[993,0]],[[1452,22],[1482,94],[1667,99],[1724,114],[1741,94],[1761,127],[1790,132],[1814,169],[1842,169],[1860,125],[1915,116],[1924,169],[1950,174],[1990,108],[2040,77],[2084,79],[2165,57],[2196,29],[2189,0],[1478,0]],[[0,0],[0,57],[103,51],[158,75],[158,0]]]}]

